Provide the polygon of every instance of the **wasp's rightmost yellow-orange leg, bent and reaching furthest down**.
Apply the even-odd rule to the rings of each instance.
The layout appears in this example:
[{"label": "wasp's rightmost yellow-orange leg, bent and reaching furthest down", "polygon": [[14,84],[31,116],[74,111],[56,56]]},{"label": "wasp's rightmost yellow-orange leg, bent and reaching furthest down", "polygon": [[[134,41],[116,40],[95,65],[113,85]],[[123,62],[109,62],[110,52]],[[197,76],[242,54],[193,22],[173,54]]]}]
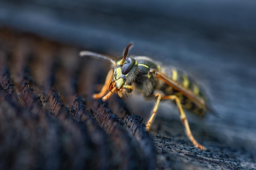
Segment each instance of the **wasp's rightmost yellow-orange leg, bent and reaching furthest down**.
[{"label": "wasp's rightmost yellow-orange leg, bent and reaching furthest down", "polygon": [[186,119],[186,114],[185,114],[185,112],[184,112],[184,110],[183,110],[183,108],[182,108],[180,99],[179,99],[176,95],[164,96],[164,97],[162,97],[162,99],[175,100],[175,102],[176,102],[176,104],[177,104],[177,107],[178,107],[178,109],[179,109],[181,122],[182,122],[182,124],[183,124],[184,127],[185,127],[186,134],[188,135],[190,141],[194,144],[195,147],[200,148],[201,150],[205,150],[204,146],[198,144],[198,142],[195,140],[195,138],[193,137],[193,135],[192,135],[192,133],[191,133],[191,130],[190,130],[190,128],[189,128],[189,122],[188,122],[188,120]]}]

